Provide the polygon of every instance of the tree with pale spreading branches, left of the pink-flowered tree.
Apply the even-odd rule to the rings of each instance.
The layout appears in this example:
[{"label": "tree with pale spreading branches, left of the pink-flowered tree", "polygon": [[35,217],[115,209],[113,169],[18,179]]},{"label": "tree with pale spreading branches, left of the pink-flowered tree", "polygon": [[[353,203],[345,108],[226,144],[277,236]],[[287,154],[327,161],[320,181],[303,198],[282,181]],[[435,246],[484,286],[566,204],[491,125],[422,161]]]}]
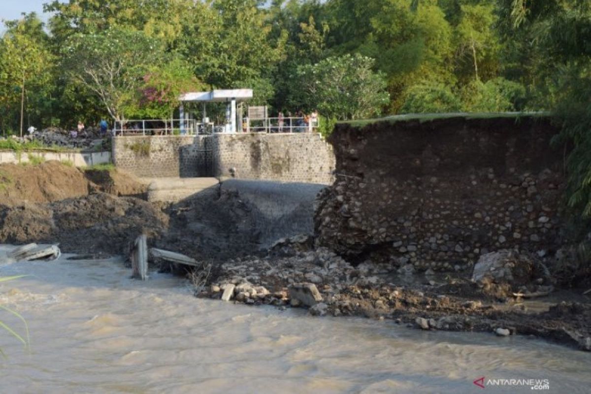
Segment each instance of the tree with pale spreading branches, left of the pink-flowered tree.
[{"label": "tree with pale spreading branches, left of the pink-flowered tree", "polygon": [[70,79],[93,92],[115,121],[134,107],[144,76],[164,56],[157,40],[119,28],[74,34],[63,54]]}]

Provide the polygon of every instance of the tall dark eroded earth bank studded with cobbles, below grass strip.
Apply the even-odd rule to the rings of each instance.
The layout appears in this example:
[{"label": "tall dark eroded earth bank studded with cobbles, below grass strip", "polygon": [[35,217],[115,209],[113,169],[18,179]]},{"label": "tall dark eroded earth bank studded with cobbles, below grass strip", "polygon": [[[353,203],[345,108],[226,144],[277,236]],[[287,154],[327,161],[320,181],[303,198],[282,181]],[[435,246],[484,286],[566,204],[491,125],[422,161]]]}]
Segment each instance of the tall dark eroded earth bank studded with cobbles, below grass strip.
[{"label": "tall dark eroded earth bank studded with cobbles, below grass strip", "polygon": [[320,245],[352,262],[463,269],[486,252],[562,244],[563,149],[547,118],[337,126]]}]

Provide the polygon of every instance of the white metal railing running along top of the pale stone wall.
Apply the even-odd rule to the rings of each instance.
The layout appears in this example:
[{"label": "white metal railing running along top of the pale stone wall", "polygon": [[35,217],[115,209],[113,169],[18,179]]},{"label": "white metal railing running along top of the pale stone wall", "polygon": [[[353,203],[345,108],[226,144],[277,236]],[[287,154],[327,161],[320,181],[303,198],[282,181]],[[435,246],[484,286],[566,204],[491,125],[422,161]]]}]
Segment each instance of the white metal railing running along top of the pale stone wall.
[{"label": "white metal railing running along top of the pale stone wall", "polygon": [[[304,133],[314,132],[318,119],[306,118],[246,118],[237,133]],[[226,126],[196,119],[128,119],[116,121],[113,135],[207,135],[223,133]]]}]

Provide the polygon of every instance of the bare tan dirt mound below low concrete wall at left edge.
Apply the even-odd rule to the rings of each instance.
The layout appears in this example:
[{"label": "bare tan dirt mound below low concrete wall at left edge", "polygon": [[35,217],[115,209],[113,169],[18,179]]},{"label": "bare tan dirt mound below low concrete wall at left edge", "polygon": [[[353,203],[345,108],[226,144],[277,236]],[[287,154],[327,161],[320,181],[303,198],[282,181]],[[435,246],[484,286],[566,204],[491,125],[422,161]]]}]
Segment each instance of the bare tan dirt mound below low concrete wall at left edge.
[{"label": "bare tan dirt mound below low concrete wall at left edge", "polygon": [[50,203],[88,194],[83,172],[59,161],[40,165],[0,165],[0,204],[14,206],[23,201]]}]

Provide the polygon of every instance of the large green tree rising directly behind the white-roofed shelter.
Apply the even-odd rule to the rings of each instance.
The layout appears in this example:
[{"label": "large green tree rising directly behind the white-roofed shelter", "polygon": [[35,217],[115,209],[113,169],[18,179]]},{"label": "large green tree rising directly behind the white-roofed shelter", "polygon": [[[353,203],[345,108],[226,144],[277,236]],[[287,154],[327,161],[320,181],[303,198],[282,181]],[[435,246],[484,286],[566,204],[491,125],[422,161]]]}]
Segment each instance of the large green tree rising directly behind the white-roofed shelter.
[{"label": "large green tree rising directly behind the white-roofed shelter", "polygon": [[[287,35],[271,35],[265,11],[255,0],[213,0],[193,8],[184,27],[180,52],[194,65],[194,73],[215,87],[253,82],[267,85],[284,54]],[[258,93],[267,89],[255,89]]]}]

